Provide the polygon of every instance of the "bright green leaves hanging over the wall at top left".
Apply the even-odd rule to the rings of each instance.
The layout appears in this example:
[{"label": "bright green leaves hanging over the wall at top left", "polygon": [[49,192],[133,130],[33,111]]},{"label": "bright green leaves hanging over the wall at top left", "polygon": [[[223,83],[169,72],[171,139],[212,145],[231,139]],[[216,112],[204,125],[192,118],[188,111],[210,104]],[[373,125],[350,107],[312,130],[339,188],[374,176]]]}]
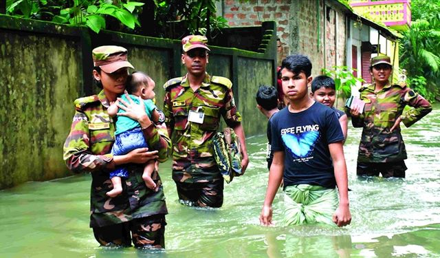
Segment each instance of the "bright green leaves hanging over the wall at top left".
[{"label": "bright green leaves hanging over the wall at top left", "polygon": [[106,28],[106,18],[114,17],[128,28],[140,26],[135,11],[144,3],[122,0],[8,0],[6,13],[23,18],[87,25],[98,33]]}]

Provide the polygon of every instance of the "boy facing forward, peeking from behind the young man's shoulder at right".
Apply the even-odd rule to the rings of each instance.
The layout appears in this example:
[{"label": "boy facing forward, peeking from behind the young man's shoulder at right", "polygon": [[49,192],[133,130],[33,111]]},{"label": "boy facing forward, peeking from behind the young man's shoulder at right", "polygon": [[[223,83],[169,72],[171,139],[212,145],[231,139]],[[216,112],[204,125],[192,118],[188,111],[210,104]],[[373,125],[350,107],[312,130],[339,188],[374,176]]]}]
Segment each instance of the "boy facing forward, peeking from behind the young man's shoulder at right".
[{"label": "boy facing forward, peeking from behind the young man's shoulder at right", "polygon": [[[316,76],[311,82],[310,96],[319,103],[326,105],[333,109],[338,116],[339,124],[341,125],[344,139],[347,139],[348,118],[344,111],[333,107],[336,100],[336,85],[335,80],[327,75]],[[344,140],[345,142],[345,140]]]}]

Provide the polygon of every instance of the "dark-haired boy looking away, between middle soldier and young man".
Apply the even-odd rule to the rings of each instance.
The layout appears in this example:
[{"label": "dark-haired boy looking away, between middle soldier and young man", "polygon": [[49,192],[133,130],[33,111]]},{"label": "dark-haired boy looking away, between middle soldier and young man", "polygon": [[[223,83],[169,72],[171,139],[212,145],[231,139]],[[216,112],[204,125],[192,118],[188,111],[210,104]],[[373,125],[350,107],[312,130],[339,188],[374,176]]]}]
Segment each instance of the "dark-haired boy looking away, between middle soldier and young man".
[{"label": "dark-haired boy looking away, between middle soldier and young man", "polygon": [[259,109],[261,114],[267,117],[267,169],[270,169],[272,159],[274,158],[274,152],[272,151],[270,144],[272,142],[272,133],[270,131],[270,121],[273,115],[279,111],[278,109],[278,92],[275,87],[261,85],[259,91],[256,92],[256,108]]}]

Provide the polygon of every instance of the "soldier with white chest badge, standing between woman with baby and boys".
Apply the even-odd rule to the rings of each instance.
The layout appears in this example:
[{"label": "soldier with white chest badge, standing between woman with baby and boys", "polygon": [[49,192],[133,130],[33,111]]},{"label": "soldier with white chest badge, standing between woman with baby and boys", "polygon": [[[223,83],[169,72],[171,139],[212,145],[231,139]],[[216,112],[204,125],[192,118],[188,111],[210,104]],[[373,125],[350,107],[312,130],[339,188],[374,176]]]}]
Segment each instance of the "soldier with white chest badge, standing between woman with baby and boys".
[{"label": "soldier with white chest badge, standing between woman with baby and boys", "polygon": [[188,73],[165,83],[164,113],[168,135],[174,132],[173,180],[183,204],[220,207],[223,177],[213,156],[212,136],[220,117],[240,138],[242,171],[248,166],[241,116],[228,78],[206,73],[209,48],[204,36],[182,39],[181,61]]}]

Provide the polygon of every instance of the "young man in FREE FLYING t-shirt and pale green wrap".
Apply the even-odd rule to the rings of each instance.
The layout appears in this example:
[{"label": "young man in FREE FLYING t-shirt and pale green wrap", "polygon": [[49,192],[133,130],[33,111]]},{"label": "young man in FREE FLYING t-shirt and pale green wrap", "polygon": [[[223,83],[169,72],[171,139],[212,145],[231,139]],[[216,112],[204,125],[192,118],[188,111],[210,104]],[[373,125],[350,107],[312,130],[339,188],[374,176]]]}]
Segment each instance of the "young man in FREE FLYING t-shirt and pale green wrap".
[{"label": "young man in FREE FLYING t-shirt and pale green wrap", "polygon": [[310,75],[307,56],[283,60],[281,80],[289,105],[271,121],[274,160],[260,215],[265,226],[272,224],[272,202],[281,180],[286,225],[321,222],[346,226],[351,222],[344,136],[335,112],[310,97]]}]

